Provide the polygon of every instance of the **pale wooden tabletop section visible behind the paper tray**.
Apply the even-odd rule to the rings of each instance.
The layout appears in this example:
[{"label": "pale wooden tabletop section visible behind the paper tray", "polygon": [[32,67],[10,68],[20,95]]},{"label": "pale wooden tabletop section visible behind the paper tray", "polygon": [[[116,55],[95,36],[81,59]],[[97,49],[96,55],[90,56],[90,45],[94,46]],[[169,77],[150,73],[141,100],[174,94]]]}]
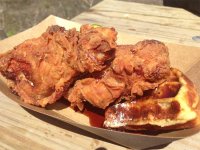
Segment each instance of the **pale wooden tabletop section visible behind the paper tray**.
[{"label": "pale wooden tabletop section visible behind the paper tray", "polygon": [[198,46],[200,18],[184,9],[104,0],[72,19],[79,23],[113,26],[118,31],[150,39]]}]

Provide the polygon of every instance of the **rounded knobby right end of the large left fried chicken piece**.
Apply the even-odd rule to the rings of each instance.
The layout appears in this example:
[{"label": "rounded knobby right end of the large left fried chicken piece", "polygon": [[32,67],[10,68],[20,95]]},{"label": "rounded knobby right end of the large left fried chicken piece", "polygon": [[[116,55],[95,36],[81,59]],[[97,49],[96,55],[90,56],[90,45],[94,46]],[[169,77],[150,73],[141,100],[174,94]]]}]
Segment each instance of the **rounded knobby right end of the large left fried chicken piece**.
[{"label": "rounded knobby right end of the large left fried chicken piece", "polygon": [[80,29],[77,48],[69,48],[67,62],[79,72],[101,71],[106,67],[105,62],[114,57],[116,40],[114,28],[84,25]]}]

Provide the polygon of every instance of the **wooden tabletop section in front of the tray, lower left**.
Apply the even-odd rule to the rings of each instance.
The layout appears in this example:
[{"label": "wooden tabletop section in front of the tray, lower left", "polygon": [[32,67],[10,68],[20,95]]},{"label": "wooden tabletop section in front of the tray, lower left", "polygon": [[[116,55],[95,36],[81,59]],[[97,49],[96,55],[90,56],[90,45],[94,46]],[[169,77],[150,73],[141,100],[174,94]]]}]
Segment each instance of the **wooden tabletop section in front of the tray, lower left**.
[{"label": "wooden tabletop section in front of the tray, lower left", "polygon": [[[0,149],[96,149],[106,147],[106,149],[126,149],[121,146],[99,140],[99,137],[77,133],[78,128],[60,128],[52,124],[50,118],[31,114],[13,101],[5,101],[5,96],[0,93]],[[51,120],[51,123],[48,123]],[[56,120],[54,120],[56,122]],[[60,122],[59,122],[60,123]],[[67,129],[67,130],[66,130]],[[92,135],[92,136],[91,136]]]}]

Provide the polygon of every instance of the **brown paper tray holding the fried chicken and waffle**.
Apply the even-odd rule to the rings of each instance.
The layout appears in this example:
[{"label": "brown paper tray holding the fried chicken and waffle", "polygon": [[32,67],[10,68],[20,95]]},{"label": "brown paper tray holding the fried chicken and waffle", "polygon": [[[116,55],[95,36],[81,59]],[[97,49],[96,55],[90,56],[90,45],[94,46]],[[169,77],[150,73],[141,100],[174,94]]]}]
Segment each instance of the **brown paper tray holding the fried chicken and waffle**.
[{"label": "brown paper tray holding the fried chicken and waffle", "polygon": [[[40,36],[41,33],[43,33],[47,29],[48,26],[55,24],[63,26],[66,29],[73,27],[76,27],[78,29],[80,27],[80,24],[78,23],[64,20],[55,16],[49,16],[38,25],[0,41],[0,52],[6,52],[26,39]],[[123,33],[118,34],[119,44],[134,44],[142,39],[145,39],[145,36],[139,37]],[[169,47],[171,65],[173,67],[179,68],[181,71],[186,73],[190,77],[190,79],[197,85],[197,89],[199,90],[200,48],[178,44],[167,44],[167,46]],[[61,120],[63,122],[87,130],[129,148],[145,149],[157,145],[163,145],[170,143],[174,140],[191,136],[199,131],[199,127],[196,127],[192,129],[171,131],[157,135],[145,135],[91,127],[89,125],[89,118],[80,113],[74,112],[71,108],[67,108],[67,106],[63,106],[65,105],[63,103],[58,102],[51,109],[44,109],[23,103],[19,99],[19,97],[11,93],[10,89],[7,87],[4,79],[2,78],[0,80],[0,91],[7,96],[7,100],[13,100],[27,109]],[[63,107],[64,109],[57,109],[60,107]]]}]

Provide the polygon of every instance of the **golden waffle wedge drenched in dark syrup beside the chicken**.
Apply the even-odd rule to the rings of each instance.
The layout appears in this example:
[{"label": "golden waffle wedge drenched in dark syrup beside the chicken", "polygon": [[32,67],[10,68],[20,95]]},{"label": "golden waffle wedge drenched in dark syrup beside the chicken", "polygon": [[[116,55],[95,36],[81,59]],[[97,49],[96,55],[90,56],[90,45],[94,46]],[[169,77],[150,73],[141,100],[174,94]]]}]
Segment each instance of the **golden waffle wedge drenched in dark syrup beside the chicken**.
[{"label": "golden waffle wedge drenched in dark syrup beside the chicken", "polygon": [[171,130],[200,124],[199,96],[193,83],[172,68],[169,79],[143,97],[106,110],[104,126],[127,130]]}]

